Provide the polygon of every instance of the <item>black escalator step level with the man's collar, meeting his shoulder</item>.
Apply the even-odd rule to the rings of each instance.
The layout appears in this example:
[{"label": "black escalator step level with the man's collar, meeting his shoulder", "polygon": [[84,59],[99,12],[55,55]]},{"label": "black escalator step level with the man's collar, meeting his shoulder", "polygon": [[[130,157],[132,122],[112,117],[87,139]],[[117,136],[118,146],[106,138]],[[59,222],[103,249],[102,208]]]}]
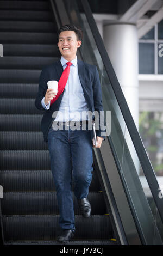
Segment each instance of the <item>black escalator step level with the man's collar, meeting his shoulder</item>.
[{"label": "black escalator step level with the man's collar, meeting his shoulder", "polygon": [[0,69],[42,69],[56,62],[58,57],[7,56],[0,59]]}]

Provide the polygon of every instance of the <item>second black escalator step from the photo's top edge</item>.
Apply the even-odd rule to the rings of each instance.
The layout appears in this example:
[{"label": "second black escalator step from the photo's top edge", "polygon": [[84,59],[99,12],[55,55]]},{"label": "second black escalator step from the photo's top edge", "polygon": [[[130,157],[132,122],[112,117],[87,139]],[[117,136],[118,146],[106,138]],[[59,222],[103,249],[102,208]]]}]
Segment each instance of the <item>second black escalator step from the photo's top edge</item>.
[{"label": "second black escalator step from the photo's top edge", "polygon": [[53,14],[51,11],[0,9],[0,20],[53,21]]}]

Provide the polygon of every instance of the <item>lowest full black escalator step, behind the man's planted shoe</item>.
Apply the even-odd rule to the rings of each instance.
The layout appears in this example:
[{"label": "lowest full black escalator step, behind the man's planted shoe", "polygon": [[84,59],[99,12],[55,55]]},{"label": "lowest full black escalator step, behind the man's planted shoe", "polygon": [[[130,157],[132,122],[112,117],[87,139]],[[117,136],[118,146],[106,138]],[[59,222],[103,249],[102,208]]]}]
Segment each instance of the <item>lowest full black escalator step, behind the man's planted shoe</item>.
[{"label": "lowest full black escalator step, behind the man's planted shoe", "polygon": [[[5,241],[54,240],[60,234],[59,216],[17,215],[2,216]],[[113,231],[109,216],[93,215],[90,218],[75,216],[74,239],[111,239]]]}]

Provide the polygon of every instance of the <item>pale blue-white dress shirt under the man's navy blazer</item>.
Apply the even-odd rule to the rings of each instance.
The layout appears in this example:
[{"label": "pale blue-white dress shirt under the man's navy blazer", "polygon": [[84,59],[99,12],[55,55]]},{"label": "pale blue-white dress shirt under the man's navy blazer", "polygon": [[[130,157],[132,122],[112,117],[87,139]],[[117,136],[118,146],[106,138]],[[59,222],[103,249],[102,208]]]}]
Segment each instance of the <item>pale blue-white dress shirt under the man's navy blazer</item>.
[{"label": "pale blue-white dress shirt under the man's navy blazer", "polygon": [[[64,57],[61,57],[60,62],[63,66],[63,69],[66,68],[67,60]],[[70,74],[65,86],[65,92],[62,97],[59,112],[55,121],[82,121],[89,120],[87,111],[89,108],[85,101],[84,92],[82,84],[80,83],[78,75],[78,59],[77,56],[71,61],[72,65],[70,66]],[[45,97],[43,97],[41,104],[43,108],[49,109],[50,102],[45,105]]]}]

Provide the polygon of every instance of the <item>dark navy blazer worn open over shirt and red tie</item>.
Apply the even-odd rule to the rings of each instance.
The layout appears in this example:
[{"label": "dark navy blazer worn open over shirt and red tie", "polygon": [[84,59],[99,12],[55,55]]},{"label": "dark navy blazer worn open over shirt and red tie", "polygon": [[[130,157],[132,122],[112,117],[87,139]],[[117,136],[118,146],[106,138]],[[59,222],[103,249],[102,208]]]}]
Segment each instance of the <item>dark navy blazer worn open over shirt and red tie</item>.
[{"label": "dark navy blazer worn open over shirt and red tie", "polygon": [[[58,99],[50,106],[47,110],[42,107],[41,100],[45,97],[47,87],[47,82],[49,80],[59,81],[60,76],[63,72],[63,68],[60,59],[48,66],[45,66],[40,74],[39,79],[39,90],[35,99],[36,108],[45,111],[45,114],[41,120],[41,130],[43,132],[44,141],[47,142],[48,130],[51,127],[55,118],[52,117],[54,111],[59,111],[59,106],[62,100],[64,92],[58,97]],[[102,105],[102,92],[101,84],[99,81],[99,75],[96,66],[82,62],[78,59],[78,74],[79,79],[82,84],[84,97],[89,107],[89,111],[103,111]],[[97,136],[101,136],[101,130],[96,131]],[[104,136],[101,136],[104,138]],[[93,138],[93,131],[91,131],[91,139]]]}]

